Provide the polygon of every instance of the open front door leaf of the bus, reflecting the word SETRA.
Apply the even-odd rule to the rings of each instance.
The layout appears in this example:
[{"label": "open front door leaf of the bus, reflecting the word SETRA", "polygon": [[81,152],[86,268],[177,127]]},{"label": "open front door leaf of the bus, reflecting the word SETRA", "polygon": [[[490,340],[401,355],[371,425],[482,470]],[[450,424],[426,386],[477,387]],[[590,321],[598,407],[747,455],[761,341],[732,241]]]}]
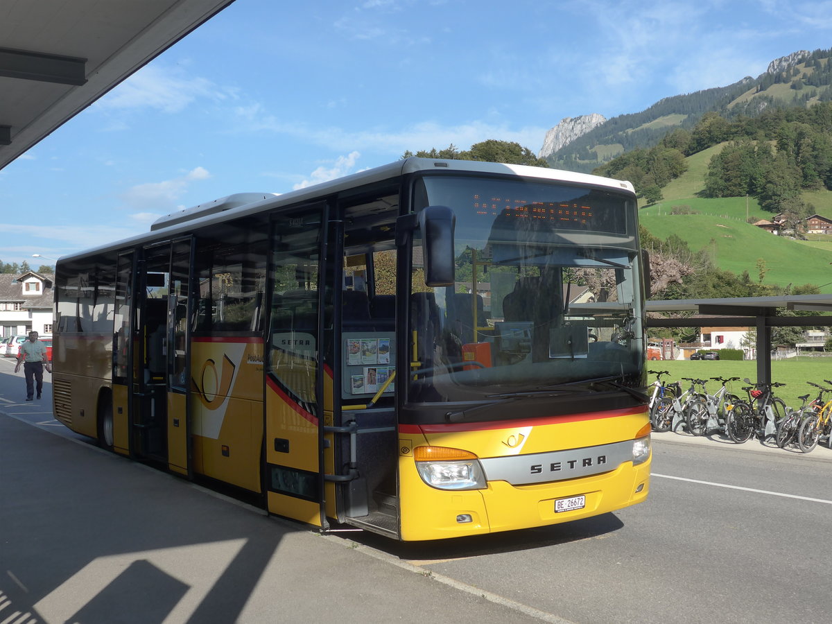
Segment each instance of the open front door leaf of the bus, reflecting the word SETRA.
[{"label": "open front door leaf of the bus, reflecting the word SETRA", "polygon": [[265,349],[267,508],[319,527],[325,524],[324,289],[319,287],[325,214],[325,205],[317,204],[272,220],[271,320]]}]

